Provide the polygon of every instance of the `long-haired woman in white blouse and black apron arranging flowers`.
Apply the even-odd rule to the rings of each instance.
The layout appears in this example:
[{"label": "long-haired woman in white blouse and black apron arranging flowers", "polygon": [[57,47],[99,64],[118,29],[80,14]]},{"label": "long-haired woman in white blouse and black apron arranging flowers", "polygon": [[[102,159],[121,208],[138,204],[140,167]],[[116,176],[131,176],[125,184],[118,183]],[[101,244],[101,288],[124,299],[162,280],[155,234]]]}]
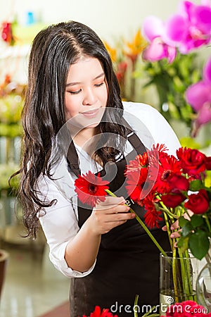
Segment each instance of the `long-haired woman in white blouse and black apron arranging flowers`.
[{"label": "long-haired woman in white blouse and black apron arranging flowers", "polygon": [[[94,306],[133,316],[159,303],[159,251],[125,204],[124,170],[153,143],[175,154],[179,142],[151,106],[122,103],[103,42],[86,25],[51,25],[35,37],[23,111],[20,182],[24,222],[36,237],[39,223],[53,265],[71,278],[70,315]],[[117,197],[94,209],[75,193],[79,173],[100,173]],[[144,209],[133,204],[143,218]],[[153,235],[169,248],[166,232]]]}]

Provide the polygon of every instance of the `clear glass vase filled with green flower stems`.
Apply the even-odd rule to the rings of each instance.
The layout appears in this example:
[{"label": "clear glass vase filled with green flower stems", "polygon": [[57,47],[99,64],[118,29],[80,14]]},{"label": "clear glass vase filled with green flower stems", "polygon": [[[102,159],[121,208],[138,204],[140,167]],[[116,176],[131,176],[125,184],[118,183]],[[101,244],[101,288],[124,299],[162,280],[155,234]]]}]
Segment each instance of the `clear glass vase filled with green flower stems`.
[{"label": "clear glass vase filled with green flower stems", "polygon": [[186,300],[196,301],[198,260],[188,255],[167,256],[160,254],[160,310],[165,313],[168,306]]}]

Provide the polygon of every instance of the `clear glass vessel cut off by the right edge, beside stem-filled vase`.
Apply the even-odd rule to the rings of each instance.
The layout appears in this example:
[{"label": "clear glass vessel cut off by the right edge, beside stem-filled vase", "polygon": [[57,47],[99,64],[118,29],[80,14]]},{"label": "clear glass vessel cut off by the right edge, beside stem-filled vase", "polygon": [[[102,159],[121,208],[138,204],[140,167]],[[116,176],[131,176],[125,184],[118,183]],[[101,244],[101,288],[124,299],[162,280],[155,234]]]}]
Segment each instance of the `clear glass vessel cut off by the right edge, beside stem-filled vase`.
[{"label": "clear glass vessel cut off by the right edge, beside stem-filled vase", "polygon": [[196,280],[196,296],[198,304],[211,312],[211,263],[206,263]]}]

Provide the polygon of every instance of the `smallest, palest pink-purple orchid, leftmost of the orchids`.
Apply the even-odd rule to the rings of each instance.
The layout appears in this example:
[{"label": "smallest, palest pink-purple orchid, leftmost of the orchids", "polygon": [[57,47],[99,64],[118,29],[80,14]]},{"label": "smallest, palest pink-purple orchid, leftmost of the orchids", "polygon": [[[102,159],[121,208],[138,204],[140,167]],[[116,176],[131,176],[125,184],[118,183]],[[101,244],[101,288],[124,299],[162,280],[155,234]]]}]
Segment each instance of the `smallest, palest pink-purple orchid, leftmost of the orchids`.
[{"label": "smallest, palest pink-purple orchid, leftmost of the orchids", "polygon": [[152,15],[146,18],[143,22],[143,33],[149,42],[142,54],[144,60],[155,62],[167,58],[169,63],[174,61],[177,49],[165,42],[165,25],[162,20]]}]

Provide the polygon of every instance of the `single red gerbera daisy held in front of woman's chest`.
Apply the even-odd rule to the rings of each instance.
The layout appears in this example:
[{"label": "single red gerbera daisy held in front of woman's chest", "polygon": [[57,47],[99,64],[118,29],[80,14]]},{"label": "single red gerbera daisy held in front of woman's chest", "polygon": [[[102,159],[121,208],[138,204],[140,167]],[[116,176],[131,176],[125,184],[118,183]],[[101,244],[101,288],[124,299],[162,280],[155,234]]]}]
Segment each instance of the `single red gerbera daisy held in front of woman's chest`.
[{"label": "single red gerbera daisy held in front of woman's chest", "polygon": [[105,201],[108,181],[103,180],[99,173],[94,175],[90,171],[86,175],[79,175],[75,180],[75,192],[83,204],[88,204],[92,208],[96,206],[97,201]]}]

